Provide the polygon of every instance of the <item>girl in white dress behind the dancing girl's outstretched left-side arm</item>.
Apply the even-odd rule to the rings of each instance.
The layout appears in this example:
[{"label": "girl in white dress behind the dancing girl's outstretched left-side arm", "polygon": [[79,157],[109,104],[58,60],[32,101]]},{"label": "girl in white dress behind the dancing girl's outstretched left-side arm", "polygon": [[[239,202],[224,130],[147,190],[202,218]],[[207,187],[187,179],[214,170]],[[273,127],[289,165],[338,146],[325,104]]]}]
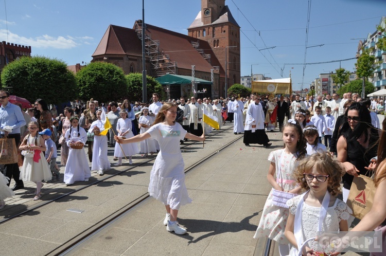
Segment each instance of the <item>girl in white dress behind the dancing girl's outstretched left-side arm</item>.
[{"label": "girl in white dress behind the dancing girl's outstretched left-side arm", "polygon": [[[119,115],[120,115],[120,118],[117,121],[118,136],[124,137],[124,138],[134,137],[134,134],[132,131],[132,122],[129,118],[127,118],[127,111],[125,109],[122,109],[120,111]],[[133,164],[131,156],[133,156],[135,154],[138,154],[137,143],[129,143],[126,145],[119,145],[119,143],[115,143],[114,157],[118,158],[118,162],[114,165],[115,166],[121,166],[122,165],[122,157],[125,157],[125,156],[129,157],[129,164]]]}]

